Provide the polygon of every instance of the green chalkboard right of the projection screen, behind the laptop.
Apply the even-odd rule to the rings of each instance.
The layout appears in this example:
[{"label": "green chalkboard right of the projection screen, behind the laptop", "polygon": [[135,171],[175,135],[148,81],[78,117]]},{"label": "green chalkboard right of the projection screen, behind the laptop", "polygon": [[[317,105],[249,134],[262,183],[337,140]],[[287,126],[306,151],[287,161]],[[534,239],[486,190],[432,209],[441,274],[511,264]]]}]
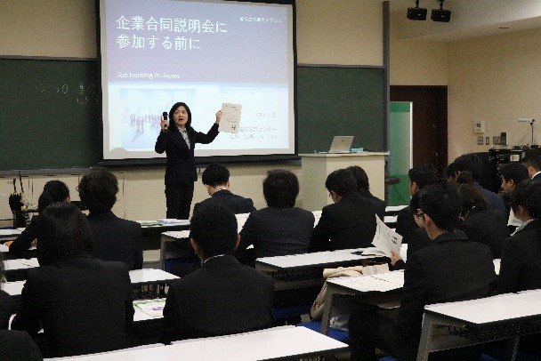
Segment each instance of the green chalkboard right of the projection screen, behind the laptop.
[{"label": "green chalkboard right of the projection screen, behind the laptop", "polygon": [[384,68],[297,67],[299,153],[327,151],[335,135],[384,151]]}]

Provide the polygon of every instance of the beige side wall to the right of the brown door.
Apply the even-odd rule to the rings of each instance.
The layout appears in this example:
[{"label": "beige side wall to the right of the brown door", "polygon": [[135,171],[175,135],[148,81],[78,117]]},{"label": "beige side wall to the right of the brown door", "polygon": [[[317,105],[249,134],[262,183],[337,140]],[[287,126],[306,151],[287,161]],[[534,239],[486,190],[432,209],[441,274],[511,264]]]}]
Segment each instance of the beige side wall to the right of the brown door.
[{"label": "beige side wall to the right of the brown door", "polygon": [[[508,132],[511,145],[531,142],[541,123],[541,29],[457,41],[449,47],[448,155],[487,151],[492,137]],[[473,122],[487,121],[490,145],[477,145]],[[534,124],[537,141],[541,124]]]}]

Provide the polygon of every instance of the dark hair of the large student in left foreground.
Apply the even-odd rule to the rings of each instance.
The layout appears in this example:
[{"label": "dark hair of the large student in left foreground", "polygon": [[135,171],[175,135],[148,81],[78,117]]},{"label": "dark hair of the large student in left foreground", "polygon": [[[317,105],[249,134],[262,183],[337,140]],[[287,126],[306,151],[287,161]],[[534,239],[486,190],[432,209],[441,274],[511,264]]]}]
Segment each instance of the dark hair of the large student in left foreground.
[{"label": "dark hair of the large student in left foreground", "polygon": [[40,214],[37,236],[37,261],[47,266],[61,258],[91,254],[93,240],[90,228],[77,205],[57,202]]}]

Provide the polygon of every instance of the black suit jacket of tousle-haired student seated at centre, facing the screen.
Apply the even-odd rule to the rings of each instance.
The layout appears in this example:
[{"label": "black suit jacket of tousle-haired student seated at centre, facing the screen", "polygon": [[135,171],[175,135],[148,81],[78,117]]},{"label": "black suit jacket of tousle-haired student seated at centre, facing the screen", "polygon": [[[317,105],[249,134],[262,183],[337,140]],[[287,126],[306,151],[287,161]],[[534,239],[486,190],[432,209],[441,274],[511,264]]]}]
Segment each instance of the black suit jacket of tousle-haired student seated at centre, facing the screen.
[{"label": "black suit jacket of tousle-haired student seated at centre, facing the screen", "polygon": [[240,231],[238,249],[254,245],[256,257],[307,253],[313,213],[296,207],[267,207],[250,213]]}]

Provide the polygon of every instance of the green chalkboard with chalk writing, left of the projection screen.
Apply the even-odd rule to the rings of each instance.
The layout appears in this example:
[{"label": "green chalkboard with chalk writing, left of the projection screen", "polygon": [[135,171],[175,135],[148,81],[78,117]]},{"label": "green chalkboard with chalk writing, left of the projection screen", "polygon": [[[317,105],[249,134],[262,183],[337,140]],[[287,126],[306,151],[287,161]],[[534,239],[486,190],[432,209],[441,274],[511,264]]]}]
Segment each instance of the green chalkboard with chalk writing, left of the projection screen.
[{"label": "green chalkboard with chalk writing, left of the projection screen", "polygon": [[0,59],[0,171],[101,161],[95,60]]}]

